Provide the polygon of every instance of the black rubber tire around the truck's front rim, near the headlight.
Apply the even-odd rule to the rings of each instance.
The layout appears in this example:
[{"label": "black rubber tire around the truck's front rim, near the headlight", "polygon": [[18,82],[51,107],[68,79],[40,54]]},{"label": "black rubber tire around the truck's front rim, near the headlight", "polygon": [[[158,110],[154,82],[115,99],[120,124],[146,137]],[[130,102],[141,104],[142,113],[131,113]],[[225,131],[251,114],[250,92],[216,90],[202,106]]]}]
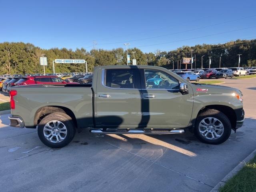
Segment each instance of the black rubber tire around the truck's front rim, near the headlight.
[{"label": "black rubber tire around the truck's front rim, near the headlight", "polygon": [[[220,120],[222,122],[223,127],[224,127],[224,132],[223,132],[222,136],[220,136],[220,138],[210,140],[200,134],[199,123],[201,122],[201,120],[203,120],[204,118],[207,118],[207,117],[217,118],[218,120]],[[201,112],[200,114],[198,114],[195,129],[194,129],[194,134],[200,141],[202,141],[204,143],[217,145],[217,144],[221,144],[221,143],[225,142],[229,138],[229,136],[231,134],[231,130],[232,130],[232,126],[231,126],[230,120],[224,113],[222,113],[218,110],[215,110],[215,109],[208,109],[208,110],[205,110],[205,111]]]}]

